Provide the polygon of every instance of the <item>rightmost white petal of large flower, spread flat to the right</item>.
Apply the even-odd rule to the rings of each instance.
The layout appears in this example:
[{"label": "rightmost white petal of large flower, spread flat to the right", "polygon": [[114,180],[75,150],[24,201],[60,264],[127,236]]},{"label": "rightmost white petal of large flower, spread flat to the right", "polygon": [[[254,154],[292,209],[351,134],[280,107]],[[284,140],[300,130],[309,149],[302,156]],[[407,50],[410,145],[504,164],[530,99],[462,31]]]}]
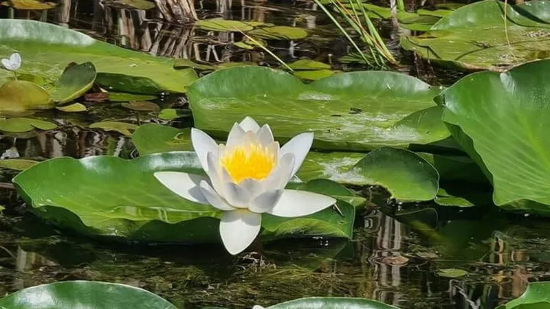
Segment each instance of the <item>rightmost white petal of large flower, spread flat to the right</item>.
[{"label": "rightmost white petal of large flower, spread flat to the right", "polygon": [[315,214],[336,203],[335,198],[307,191],[283,190],[278,203],[269,214],[285,218]]}]

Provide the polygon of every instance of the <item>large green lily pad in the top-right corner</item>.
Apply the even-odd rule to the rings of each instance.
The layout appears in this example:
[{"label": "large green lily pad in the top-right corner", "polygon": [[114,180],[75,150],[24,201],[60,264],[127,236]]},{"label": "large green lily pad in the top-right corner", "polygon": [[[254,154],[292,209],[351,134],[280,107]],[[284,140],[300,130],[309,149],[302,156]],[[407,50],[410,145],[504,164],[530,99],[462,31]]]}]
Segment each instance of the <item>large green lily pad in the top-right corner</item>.
[{"label": "large green lily pad in the top-right corner", "polygon": [[[533,10],[533,6],[536,9]],[[443,17],[419,36],[403,36],[401,46],[423,58],[460,69],[501,71],[512,65],[550,57],[550,1],[507,6],[485,0]]]}]

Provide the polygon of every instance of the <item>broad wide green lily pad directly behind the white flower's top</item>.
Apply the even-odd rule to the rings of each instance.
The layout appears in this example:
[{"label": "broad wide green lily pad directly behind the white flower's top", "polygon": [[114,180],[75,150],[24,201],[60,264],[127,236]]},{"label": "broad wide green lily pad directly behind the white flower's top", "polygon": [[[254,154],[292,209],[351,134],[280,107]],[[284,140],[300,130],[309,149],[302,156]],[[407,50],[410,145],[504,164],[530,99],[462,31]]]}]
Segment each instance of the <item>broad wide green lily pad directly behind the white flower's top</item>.
[{"label": "broad wide green lily pad directly behind the white flower's top", "polygon": [[419,117],[419,122],[397,124],[435,106],[432,99],[439,91],[388,71],[340,73],[306,85],[284,71],[236,67],[201,78],[189,87],[188,97],[195,126],[217,137],[225,138],[234,122],[249,115],[270,124],[280,141],[311,131],[314,148],[349,151],[423,145],[448,137],[447,132],[441,135],[445,128],[440,119]]}]

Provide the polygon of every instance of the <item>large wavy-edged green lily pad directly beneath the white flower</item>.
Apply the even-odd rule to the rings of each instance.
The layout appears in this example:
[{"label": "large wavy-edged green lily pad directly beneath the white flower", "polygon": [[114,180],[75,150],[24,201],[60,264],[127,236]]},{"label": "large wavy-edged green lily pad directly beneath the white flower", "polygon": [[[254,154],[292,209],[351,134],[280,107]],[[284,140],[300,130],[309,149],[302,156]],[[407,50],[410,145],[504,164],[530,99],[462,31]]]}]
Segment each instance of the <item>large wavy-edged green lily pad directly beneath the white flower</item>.
[{"label": "large wavy-edged green lily pad directly beneath the white flower", "polygon": [[[60,157],[32,166],[13,182],[35,214],[80,233],[158,242],[218,242],[220,212],[166,189],[153,176],[165,170],[203,173],[195,152],[165,152],[133,160]],[[307,184],[300,186],[308,190]],[[355,207],[342,198],[337,205],[343,216],[330,208],[301,218],[266,214],[262,235],[351,238]]]}]

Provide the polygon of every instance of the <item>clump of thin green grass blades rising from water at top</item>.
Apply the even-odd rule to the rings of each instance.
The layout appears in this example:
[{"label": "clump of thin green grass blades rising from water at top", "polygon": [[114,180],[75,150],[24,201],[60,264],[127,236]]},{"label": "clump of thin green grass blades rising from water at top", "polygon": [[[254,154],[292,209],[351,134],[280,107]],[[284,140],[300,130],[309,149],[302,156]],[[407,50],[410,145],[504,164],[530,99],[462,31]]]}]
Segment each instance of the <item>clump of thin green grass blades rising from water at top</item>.
[{"label": "clump of thin green grass blades rising from water at top", "polygon": [[347,25],[349,25],[355,33],[359,34],[360,40],[364,45],[366,45],[366,52],[359,47],[358,43],[355,42],[349,32],[344,28],[344,25],[336,19],[336,16],[334,16],[325,7],[325,5],[323,5],[319,0],[314,1],[317,5],[319,5],[321,10],[327,14],[329,19],[333,21],[340,32],[344,34],[367,65],[383,68],[386,67],[387,62],[390,62],[393,65],[397,64],[397,60],[395,60],[391,52],[388,50],[388,47],[386,47],[384,40],[382,40],[382,37],[378,34],[371,19],[369,18],[369,15],[366,13],[361,0],[350,0],[349,6],[351,6],[351,10],[347,8],[341,0],[329,1],[331,5],[334,6],[336,11],[340,13]]}]

